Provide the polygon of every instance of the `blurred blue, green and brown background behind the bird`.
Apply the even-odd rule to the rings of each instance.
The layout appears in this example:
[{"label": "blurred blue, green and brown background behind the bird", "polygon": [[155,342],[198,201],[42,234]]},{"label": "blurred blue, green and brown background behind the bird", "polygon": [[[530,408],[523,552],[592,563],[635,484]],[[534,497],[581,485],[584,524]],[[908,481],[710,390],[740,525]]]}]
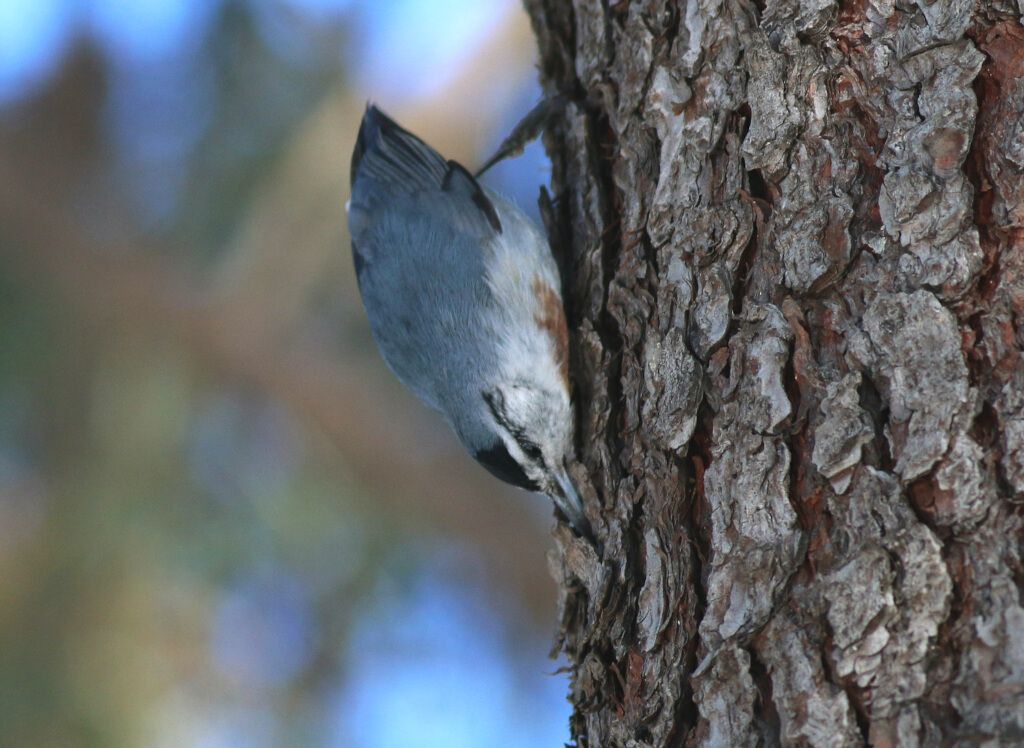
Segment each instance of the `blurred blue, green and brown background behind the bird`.
[{"label": "blurred blue, green and brown background behind the bird", "polygon": [[368,98],[472,168],[535,55],[517,0],[0,0],[0,746],[568,738],[549,502],[384,367],[343,207]]}]

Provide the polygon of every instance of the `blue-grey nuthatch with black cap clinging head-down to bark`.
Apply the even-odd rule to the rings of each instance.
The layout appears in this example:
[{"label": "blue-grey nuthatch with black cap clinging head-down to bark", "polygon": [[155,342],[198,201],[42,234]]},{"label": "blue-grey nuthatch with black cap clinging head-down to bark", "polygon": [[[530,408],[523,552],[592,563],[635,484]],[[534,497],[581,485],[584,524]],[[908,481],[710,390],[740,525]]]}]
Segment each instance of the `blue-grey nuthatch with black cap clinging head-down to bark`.
[{"label": "blue-grey nuthatch with black cap clinging head-down to bark", "polygon": [[501,480],[550,496],[593,539],[568,475],[568,334],[544,235],[371,105],[347,206],[384,361]]}]

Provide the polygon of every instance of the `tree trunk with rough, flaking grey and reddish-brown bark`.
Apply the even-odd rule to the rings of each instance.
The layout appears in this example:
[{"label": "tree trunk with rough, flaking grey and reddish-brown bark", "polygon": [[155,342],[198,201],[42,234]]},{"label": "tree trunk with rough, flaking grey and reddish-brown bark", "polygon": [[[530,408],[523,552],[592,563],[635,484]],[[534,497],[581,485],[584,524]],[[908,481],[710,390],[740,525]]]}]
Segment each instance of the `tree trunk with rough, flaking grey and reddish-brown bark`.
[{"label": "tree trunk with rough, flaking grey and reddish-brown bark", "polygon": [[579,745],[1024,745],[1024,3],[526,4]]}]

